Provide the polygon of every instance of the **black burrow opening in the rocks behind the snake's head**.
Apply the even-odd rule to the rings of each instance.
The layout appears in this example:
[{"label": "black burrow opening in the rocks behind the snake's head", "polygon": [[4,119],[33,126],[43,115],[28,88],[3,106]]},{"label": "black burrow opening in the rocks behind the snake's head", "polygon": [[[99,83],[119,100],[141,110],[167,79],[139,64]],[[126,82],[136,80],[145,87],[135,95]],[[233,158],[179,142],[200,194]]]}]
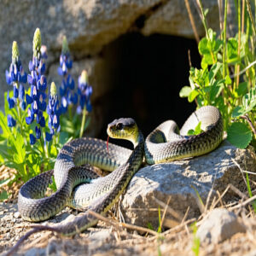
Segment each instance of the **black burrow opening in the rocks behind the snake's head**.
[{"label": "black burrow opening in the rocks behind the snake's head", "polygon": [[113,119],[132,117],[146,137],[157,125],[173,119],[181,127],[195,104],[180,98],[189,84],[189,54],[193,67],[201,57],[195,40],[155,34],[144,37],[128,33],[103,50],[110,59],[113,90],[105,97],[104,123],[100,137]]}]

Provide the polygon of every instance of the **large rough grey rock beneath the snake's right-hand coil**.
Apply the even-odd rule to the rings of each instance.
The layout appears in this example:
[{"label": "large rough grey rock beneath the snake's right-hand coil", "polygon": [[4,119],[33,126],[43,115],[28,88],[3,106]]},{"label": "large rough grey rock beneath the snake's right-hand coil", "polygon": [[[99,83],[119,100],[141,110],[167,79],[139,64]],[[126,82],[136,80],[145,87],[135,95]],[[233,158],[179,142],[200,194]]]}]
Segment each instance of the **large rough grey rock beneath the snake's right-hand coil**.
[{"label": "large rough grey rock beneath the snake's right-hand coil", "polygon": [[[201,214],[199,210],[201,204],[197,203],[196,193],[206,203],[211,189],[213,189],[213,197],[216,190],[223,192],[229,183],[237,189],[244,188],[245,183],[241,171],[233,160],[241,166],[241,169],[256,172],[255,154],[251,155],[248,150],[238,149],[227,141],[224,141],[210,154],[201,157],[140,169],[132,177],[121,202],[125,221],[141,226],[147,226],[150,223],[157,228],[160,201],[164,203],[164,207],[160,207],[162,215],[169,198],[171,198],[169,207],[177,212],[177,216],[173,218],[173,214],[167,211],[166,219],[176,219],[180,222],[188,207],[188,218],[198,217]],[[250,178],[254,178],[253,175]],[[232,191],[229,191],[223,198],[224,201],[232,199],[234,199]],[[164,226],[170,227],[170,223],[172,222],[164,223]]]}]

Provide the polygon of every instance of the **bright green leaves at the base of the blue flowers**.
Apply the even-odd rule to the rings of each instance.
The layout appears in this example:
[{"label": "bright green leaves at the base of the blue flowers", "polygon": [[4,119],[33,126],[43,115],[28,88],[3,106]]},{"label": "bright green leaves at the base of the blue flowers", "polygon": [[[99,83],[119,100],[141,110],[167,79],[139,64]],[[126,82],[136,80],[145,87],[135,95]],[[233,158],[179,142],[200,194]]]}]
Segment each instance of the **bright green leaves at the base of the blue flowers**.
[{"label": "bright green leaves at the base of the blue flowers", "polygon": [[[9,109],[6,96],[7,93],[4,94],[5,114],[0,111],[0,127],[2,129],[2,134],[0,134],[0,160],[5,166],[15,168],[18,171],[14,181],[20,181],[21,179],[26,182],[40,172],[53,168],[53,160],[57,156],[61,144],[57,145],[51,142],[45,145],[42,143],[31,145],[29,134],[33,127],[26,125],[26,111],[19,114],[18,106]],[[7,125],[8,114],[12,114],[17,119],[15,127]]]}]

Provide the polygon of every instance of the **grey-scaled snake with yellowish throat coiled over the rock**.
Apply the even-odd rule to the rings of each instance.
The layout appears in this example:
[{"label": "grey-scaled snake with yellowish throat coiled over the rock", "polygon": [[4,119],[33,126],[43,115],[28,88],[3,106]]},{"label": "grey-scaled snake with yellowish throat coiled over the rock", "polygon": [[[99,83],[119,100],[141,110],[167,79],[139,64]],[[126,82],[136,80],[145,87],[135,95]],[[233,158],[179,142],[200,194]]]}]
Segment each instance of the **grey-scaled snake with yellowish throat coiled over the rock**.
[{"label": "grey-scaled snake with yellowish throat coiled over the rock", "polygon": [[[187,135],[201,122],[201,133]],[[167,120],[144,141],[134,119],[114,119],[108,124],[108,137],[133,143],[133,150],[101,139],[82,137],[66,143],[60,150],[54,170],[43,172],[26,182],[18,196],[18,209],[23,219],[40,222],[54,217],[64,207],[83,210],[81,215],[51,230],[73,236],[97,223],[90,212],[106,214],[118,201],[131,177],[146,160],[148,165],[182,160],[207,154],[223,140],[223,119],[218,108],[205,106],[189,116],[179,131],[173,120]],[[99,177],[92,166],[110,173]],[[55,177],[57,190],[44,197]],[[90,210],[90,211],[89,211]],[[44,227],[44,226],[43,226]],[[45,230],[49,227],[45,226]]]}]

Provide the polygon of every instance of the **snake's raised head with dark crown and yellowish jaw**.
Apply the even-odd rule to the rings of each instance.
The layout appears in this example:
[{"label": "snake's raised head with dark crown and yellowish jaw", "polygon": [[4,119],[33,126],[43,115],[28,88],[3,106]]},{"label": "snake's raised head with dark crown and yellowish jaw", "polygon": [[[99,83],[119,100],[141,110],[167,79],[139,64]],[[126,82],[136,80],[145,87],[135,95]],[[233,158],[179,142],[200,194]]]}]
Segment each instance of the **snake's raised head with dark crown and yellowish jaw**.
[{"label": "snake's raised head with dark crown and yellowish jaw", "polygon": [[139,134],[137,124],[131,118],[114,119],[108,124],[107,132],[109,137],[126,139],[132,143],[137,142]]}]

